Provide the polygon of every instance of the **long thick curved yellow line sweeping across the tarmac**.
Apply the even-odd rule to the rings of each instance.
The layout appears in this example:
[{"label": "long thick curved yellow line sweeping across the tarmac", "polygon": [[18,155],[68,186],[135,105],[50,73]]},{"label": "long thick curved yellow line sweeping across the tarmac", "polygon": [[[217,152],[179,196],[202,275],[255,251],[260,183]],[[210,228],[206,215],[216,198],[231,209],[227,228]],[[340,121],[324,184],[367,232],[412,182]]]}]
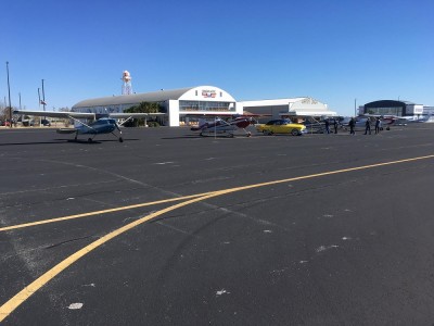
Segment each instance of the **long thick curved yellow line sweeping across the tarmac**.
[{"label": "long thick curved yellow line sweeping across the tarmac", "polygon": [[336,170],[336,171],[330,171],[330,172],[324,172],[324,173],[318,173],[318,174],[311,174],[311,175],[306,175],[306,176],[301,176],[301,177],[293,177],[293,178],[288,178],[288,179],[282,179],[282,180],[275,180],[275,181],[268,181],[268,183],[261,183],[261,184],[255,184],[255,185],[250,185],[250,186],[243,186],[243,187],[235,187],[235,188],[229,188],[226,190],[219,190],[219,191],[214,191],[208,195],[195,197],[193,199],[187,200],[184,202],[171,205],[169,208],[163,209],[161,211],[154,212],[148,216],[144,216],[140,220],[137,220],[135,222],[131,222],[130,224],[127,224],[103,237],[100,239],[93,241],[92,243],[86,246],[85,248],[80,249],[79,251],[75,252],[74,254],[69,255],[65,260],[63,260],[61,263],[52,267],[50,271],[46,272],[43,275],[41,275],[39,278],[34,280],[30,285],[25,287],[23,290],[21,290],[17,294],[15,294],[13,298],[11,298],[8,302],[5,302],[3,305],[0,306],[0,323],[7,318],[16,308],[18,308],[22,303],[24,303],[31,294],[34,294],[36,291],[38,291],[41,287],[43,287],[47,283],[49,283],[51,279],[53,279],[55,276],[58,276],[60,273],[62,273],[64,269],[69,267],[72,264],[74,264],[76,261],[91,252],[92,250],[97,249],[101,244],[112,240],[113,238],[132,229],[133,227],[143,224],[150,220],[153,220],[159,215],[163,215],[165,213],[168,213],[170,211],[177,210],[182,206],[187,206],[189,204],[195,203],[203,201],[205,199],[209,199],[213,197],[218,197],[235,191],[242,191],[246,189],[253,189],[253,188],[258,188],[258,187],[265,187],[265,186],[271,186],[271,185],[277,185],[277,184],[282,184],[282,183],[289,183],[289,181],[294,181],[294,180],[302,180],[302,179],[309,179],[309,178],[316,178],[316,177],[321,177],[321,176],[327,176],[327,175],[333,175],[333,174],[339,174],[339,173],[346,173],[346,172],[352,172],[352,171],[359,171],[359,170],[366,170],[366,168],[373,168],[373,167],[379,167],[379,166],[386,166],[386,165],[392,165],[392,164],[399,164],[399,163],[406,163],[406,162],[413,162],[413,161],[419,161],[419,160],[426,160],[426,159],[432,159],[434,155],[426,155],[426,156],[419,156],[419,158],[412,158],[412,159],[405,159],[405,160],[399,160],[399,161],[392,161],[392,162],[385,162],[385,163],[378,163],[378,164],[371,164],[371,165],[363,165],[363,166],[358,166],[358,167],[349,167],[349,168],[344,168],[344,170]]}]

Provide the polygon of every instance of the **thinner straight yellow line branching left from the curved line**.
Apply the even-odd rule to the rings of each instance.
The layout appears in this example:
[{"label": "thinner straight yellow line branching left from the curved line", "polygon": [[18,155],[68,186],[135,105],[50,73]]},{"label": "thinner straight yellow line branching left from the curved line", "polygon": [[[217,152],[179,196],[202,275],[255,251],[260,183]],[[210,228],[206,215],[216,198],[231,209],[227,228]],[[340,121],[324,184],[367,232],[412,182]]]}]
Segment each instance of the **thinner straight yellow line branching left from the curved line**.
[{"label": "thinner straight yellow line branching left from the curved line", "polygon": [[101,215],[101,214],[114,213],[114,212],[119,212],[119,211],[125,211],[125,210],[156,205],[156,204],[167,203],[167,202],[173,202],[173,201],[180,201],[180,200],[184,200],[184,199],[200,197],[203,195],[206,195],[206,193],[177,197],[177,198],[171,198],[171,199],[164,199],[164,200],[157,200],[157,201],[152,201],[152,202],[133,204],[133,205],[128,205],[128,206],[120,206],[120,208],[115,208],[115,209],[107,209],[107,210],[102,210],[102,211],[94,211],[94,212],[87,212],[87,213],[75,214],[75,215],[69,215],[69,216],[55,217],[55,218],[50,218],[50,220],[41,220],[41,221],[36,221],[36,222],[22,223],[22,224],[0,227],[0,233],[7,231],[7,230],[12,230],[12,229],[17,229],[17,228],[29,227],[29,226],[37,226],[37,225],[41,225],[41,224],[49,224],[49,223],[55,223],[55,222],[75,220],[75,218],[82,218],[82,217],[88,217],[88,216],[92,216],[92,215]]}]

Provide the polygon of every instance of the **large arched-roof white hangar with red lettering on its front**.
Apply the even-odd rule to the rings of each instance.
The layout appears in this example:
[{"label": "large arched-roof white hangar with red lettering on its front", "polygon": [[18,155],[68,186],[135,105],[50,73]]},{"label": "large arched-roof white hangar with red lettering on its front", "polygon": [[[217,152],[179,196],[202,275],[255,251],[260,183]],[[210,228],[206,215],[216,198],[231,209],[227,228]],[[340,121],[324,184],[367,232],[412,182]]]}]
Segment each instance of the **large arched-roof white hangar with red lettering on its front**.
[{"label": "large arched-roof white hangar with red lettering on its front", "polygon": [[189,117],[242,114],[235,99],[226,90],[215,86],[197,86],[153,92],[131,93],[84,100],[73,105],[75,112],[122,113],[141,102],[159,103],[166,113],[165,124],[179,126]]}]

